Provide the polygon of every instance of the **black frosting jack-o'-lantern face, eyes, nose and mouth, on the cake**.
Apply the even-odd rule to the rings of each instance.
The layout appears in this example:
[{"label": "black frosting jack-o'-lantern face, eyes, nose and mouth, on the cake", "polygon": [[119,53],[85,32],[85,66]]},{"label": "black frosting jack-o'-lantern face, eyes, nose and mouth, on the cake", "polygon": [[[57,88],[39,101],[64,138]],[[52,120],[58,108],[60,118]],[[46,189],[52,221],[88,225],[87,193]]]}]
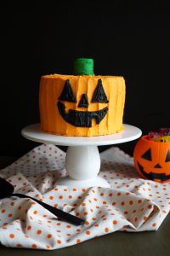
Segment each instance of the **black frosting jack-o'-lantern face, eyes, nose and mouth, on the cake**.
[{"label": "black frosting jack-o'-lantern face, eyes, nose and mouth, on the cake", "polygon": [[[99,124],[102,119],[105,118],[105,115],[108,112],[108,107],[101,108],[96,111],[81,111],[77,109],[69,109],[68,111],[65,111],[64,102],[77,103],[77,98],[71,88],[69,79],[65,81],[64,88],[61,92],[61,95],[59,96],[59,102],[57,103],[59,113],[62,118],[65,119],[65,122],[76,127],[91,127],[92,119],[95,119],[95,123]],[[88,108],[89,104],[93,104],[95,102],[108,103],[101,79],[98,80],[98,84],[94,90],[94,96],[91,102],[89,102],[88,96],[86,94],[82,94],[82,98],[80,102],[78,102],[78,108]]]}]

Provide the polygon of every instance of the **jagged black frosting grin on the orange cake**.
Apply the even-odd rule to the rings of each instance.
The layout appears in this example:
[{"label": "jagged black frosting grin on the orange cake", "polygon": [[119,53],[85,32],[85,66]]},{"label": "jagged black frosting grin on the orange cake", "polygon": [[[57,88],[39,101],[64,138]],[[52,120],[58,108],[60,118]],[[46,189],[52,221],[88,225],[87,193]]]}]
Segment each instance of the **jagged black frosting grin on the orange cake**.
[{"label": "jagged black frosting grin on the orange cake", "polygon": [[105,118],[108,108],[102,108],[98,111],[78,111],[69,109],[68,113],[65,112],[65,105],[62,102],[57,103],[59,113],[65,121],[77,127],[92,127],[92,119],[96,120],[99,124]]}]

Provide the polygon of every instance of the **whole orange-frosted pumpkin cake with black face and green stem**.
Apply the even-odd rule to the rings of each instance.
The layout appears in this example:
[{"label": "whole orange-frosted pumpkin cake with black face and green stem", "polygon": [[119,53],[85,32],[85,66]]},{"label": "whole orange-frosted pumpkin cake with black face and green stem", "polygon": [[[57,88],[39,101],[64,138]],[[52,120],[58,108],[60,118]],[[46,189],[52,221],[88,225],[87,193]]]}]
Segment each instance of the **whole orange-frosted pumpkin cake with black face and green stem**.
[{"label": "whole orange-frosted pumpkin cake with black face and green stem", "polygon": [[92,137],[123,130],[125,81],[122,77],[95,76],[92,64],[92,59],[77,59],[76,75],[42,76],[39,90],[42,131]]}]

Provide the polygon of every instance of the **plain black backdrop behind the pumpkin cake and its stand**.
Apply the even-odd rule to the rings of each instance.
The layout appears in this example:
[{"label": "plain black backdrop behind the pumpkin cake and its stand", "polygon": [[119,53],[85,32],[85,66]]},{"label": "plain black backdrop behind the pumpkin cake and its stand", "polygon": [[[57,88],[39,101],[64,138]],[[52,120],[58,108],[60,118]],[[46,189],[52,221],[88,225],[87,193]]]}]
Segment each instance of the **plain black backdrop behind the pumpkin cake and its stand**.
[{"label": "plain black backdrop behind the pumpkin cake and its stand", "polygon": [[[72,73],[76,57],[94,58],[94,73],[121,75],[123,122],[143,134],[170,126],[170,14],[162,1],[39,2],[1,9],[1,155],[21,156],[34,143],[21,137],[40,121],[42,74]],[[137,141],[119,144],[133,154]],[[100,150],[107,148],[99,148]]]}]

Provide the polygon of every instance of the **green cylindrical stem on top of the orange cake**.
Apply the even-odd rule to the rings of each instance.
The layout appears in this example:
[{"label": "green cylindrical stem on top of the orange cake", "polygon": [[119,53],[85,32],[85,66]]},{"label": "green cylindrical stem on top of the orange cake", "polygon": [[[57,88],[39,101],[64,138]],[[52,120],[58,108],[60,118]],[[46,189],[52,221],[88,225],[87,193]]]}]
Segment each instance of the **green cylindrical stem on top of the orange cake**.
[{"label": "green cylindrical stem on top of the orange cake", "polygon": [[75,75],[94,75],[94,60],[87,58],[77,58],[74,61]]}]

